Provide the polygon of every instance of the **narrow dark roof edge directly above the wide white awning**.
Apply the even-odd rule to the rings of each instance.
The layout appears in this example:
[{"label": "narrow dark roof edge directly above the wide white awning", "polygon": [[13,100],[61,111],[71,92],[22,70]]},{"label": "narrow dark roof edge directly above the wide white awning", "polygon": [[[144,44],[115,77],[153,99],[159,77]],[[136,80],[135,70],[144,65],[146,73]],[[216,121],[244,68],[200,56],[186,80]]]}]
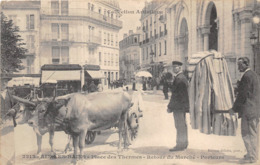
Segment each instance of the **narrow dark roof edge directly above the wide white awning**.
[{"label": "narrow dark roof edge directly above the wide white awning", "polygon": [[79,64],[45,64],[41,70],[81,70]]}]

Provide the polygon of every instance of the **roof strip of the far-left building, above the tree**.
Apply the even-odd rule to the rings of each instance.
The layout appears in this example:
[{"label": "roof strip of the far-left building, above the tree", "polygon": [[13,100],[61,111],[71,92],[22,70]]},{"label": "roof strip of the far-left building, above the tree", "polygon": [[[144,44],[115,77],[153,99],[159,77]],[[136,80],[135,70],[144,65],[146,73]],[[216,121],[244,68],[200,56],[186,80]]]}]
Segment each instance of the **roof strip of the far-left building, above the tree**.
[{"label": "roof strip of the far-left building, above the tree", "polygon": [[5,1],[1,5],[3,9],[40,9],[41,1]]}]

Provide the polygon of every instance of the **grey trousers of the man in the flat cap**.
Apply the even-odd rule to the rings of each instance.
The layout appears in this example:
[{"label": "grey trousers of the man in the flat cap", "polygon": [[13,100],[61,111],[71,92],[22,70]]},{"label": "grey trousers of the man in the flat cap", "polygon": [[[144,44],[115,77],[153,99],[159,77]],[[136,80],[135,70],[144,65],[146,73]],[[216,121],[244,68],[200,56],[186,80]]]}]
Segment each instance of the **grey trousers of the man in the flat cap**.
[{"label": "grey trousers of the man in the flat cap", "polygon": [[188,129],[186,124],[185,112],[173,112],[175,128],[177,131],[176,146],[187,148],[188,146]]}]

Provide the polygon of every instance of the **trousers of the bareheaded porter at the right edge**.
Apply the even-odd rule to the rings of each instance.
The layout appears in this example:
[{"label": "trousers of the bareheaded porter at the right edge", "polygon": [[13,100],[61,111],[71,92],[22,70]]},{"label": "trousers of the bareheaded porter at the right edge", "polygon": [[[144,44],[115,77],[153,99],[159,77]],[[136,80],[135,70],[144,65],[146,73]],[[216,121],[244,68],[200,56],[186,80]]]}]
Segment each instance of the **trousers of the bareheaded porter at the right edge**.
[{"label": "trousers of the bareheaded porter at the right edge", "polygon": [[242,116],[241,133],[247,150],[247,156],[253,160],[258,159],[259,119],[249,119]]}]

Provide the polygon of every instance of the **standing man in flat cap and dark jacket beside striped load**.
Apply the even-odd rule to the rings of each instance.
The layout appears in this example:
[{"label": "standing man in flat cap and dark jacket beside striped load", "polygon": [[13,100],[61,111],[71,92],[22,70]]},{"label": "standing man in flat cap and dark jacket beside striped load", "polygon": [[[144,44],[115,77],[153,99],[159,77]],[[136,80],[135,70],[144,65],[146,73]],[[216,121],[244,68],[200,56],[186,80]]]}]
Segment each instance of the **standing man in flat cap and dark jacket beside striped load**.
[{"label": "standing man in flat cap and dark jacket beside striped load", "polygon": [[171,86],[172,96],[167,112],[173,112],[177,137],[176,146],[170,149],[171,152],[182,151],[188,147],[186,112],[189,112],[188,80],[181,70],[182,63],[173,61],[172,66],[175,78]]}]

